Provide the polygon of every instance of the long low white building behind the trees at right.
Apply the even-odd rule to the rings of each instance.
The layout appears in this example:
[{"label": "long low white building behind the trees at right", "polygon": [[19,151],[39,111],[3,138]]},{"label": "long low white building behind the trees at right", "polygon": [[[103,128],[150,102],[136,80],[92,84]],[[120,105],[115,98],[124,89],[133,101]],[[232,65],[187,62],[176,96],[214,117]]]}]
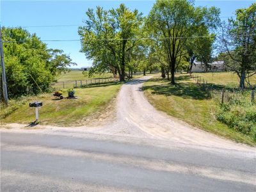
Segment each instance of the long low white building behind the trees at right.
[{"label": "long low white building behind the trees at right", "polygon": [[204,63],[195,61],[191,72],[220,72],[225,70],[224,61],[214,61],[208,65],[209,67],[205,68]]}]

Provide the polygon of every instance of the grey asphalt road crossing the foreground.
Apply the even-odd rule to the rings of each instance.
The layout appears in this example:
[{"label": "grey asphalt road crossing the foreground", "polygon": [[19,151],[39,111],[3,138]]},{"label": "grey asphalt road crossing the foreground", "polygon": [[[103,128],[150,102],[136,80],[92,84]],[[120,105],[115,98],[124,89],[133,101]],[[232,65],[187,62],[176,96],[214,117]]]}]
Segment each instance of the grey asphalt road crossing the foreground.
[{"label": "grey asphalt road crossing the foreground", "polygon": [[256,191],[255,152],[1,129],[1,191]]}]

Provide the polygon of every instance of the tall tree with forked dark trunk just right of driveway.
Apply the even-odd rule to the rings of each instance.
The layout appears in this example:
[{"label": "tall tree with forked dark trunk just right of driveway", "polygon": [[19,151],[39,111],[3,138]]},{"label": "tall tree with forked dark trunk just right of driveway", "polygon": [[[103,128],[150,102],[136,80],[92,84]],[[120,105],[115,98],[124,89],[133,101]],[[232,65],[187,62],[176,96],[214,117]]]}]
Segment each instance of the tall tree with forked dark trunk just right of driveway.
[{"label": "tall tree with forked dark trunk just right of driveway", "polygon": [[148,27],[161,40],[171,71],[171,83],[182,58],[186,56],[188,39],[196,36],[196,29],[216,28],[220,10],[195,8],[193,1],[157,1],[148,15]]}]

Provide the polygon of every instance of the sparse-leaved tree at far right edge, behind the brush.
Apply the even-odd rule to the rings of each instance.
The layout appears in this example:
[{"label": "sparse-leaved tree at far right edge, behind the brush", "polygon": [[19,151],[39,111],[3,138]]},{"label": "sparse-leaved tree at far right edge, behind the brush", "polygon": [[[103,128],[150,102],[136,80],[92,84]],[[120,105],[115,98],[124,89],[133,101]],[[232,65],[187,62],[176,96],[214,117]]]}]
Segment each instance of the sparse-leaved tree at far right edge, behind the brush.
[{"label": "sparse-leaved tree at far right edge, behind the brush", "polygon": [[256,3],[249,8],[236,10],[236,19],[223,24],[222,56],[230,70],[240,79],[244,88],[246,78],[256,74]]}]

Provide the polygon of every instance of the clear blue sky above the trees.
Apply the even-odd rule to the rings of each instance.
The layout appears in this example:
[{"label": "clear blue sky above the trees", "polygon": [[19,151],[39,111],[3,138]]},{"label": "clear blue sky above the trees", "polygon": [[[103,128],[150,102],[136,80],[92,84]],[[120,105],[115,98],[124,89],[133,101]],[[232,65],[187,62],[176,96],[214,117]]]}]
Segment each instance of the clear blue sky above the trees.
[{"label": "clear blue sky above the trees", "polygon": [[[221,10],[221,20],[234,17],[237,8],[246,8],[255,1],[195,1],[195,6],[216,6]],[[26,27],[41,40],[79,40],[78,26],[83,26],[88,8],[102,6],[105,10],[117,8],[124,3],[131,10],[138,9],[147,15],[154,1],[3,1],[1,0],[1,26]],[[60,25],[63,25],[60,27]],[[68,26],[67,26],[68,25]],[[70,26],[71,25],[71,26]],[[55,27],[54,27],[55,26]],[[58,26],[58,27],[57,27]],[[49,48],[62,49],[69,54],[76,68],[89,67],[79,41],[45,42]]]}]

